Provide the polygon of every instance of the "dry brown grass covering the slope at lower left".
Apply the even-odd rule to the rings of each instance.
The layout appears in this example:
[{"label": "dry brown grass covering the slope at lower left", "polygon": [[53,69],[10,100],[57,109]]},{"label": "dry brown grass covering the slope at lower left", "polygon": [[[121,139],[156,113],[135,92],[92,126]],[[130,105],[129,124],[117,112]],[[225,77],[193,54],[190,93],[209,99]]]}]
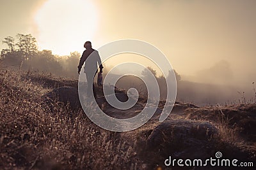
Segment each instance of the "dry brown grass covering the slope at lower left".
[{"label": "dry brown grass covering the slope at lower left", "polygon": [[[38,74],[36,75],[38,77]],[[45,78],[44,75],[41,75]],[[132,147],[80,111],[42,104],[48,92],[26,73],[0,73],[0,169],[120,169]]]}]

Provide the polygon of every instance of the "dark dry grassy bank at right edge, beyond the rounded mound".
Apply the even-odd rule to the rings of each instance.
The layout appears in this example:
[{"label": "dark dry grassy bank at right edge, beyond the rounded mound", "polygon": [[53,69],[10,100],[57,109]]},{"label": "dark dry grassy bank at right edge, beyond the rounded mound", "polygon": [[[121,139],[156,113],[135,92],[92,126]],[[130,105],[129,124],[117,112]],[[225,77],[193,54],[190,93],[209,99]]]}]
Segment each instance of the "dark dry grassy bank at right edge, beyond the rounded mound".
[{"label": "dark dry grassy bank at right edge, beyond the rounded mound", "polygon": [[186,118],[207,120],[216,126],[218,135],[214,138],[218,147],[230,146],[255,157],[255,108],[255,104],[189,108]]}]

